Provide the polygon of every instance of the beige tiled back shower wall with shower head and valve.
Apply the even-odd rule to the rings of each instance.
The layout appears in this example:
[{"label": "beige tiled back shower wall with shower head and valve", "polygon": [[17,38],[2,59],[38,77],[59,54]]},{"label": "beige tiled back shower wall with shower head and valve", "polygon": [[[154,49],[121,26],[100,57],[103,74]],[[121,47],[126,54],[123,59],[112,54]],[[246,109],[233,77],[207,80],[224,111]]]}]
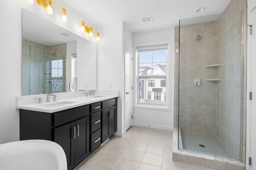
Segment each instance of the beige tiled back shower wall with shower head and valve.
[{"label": "beige tiled back shower wall with shower head and valve", "polygon": [[[178,27],[175,28],[178,34]],[[201,39],[196,40],[200,35]],[[176,48],[178,36],[175,36]],[[180,129],[192,133],[216,135],[216,64],[217,22],[184,25],[180,29]],[[178,53],[176,56],[178,59]],[[176,62],[176,72],[178,72]],[[176,75],[176,73],[175,73]],[[195,86],[194,80],[202,80]]]}]

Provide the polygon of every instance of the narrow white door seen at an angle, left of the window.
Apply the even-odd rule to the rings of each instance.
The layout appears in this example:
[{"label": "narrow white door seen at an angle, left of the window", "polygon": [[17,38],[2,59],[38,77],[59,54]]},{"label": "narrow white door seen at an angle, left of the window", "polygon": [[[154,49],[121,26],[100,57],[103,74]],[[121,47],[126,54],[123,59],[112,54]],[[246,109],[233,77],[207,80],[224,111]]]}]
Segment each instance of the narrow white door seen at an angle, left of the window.
[{"label": "narrow white door seen at an angle, left of the window", "polygon": [[129,46],[125,46],[125,98],[124,98],[124,116],[125,130],[132,126],[132,53]]}]

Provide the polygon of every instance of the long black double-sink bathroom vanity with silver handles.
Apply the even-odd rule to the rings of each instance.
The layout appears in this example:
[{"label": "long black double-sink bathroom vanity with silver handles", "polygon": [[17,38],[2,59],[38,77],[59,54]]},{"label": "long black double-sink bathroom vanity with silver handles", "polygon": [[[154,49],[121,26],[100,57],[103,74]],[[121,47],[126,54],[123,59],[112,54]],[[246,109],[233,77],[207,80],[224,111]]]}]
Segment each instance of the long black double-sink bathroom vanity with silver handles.
[{"label": "long black double-sink bathroom vanity with silver handles", "polygon": [[80,102],[66,104],[68,101],[64,101],[66,107],[61,107],[64,102],[50,102],[52,106],[48,103],[45,107],[34,104],[44,109],[56,106],[48,111],[32,108],[33,104],[27,105],[28,108],[19,106],[20,140],[46,139],[58,143],[66,153],[68,170],[75,168],[117,131],[116,96],[102,100],[87,97],[86,102],[81,102],[81,97],[72,100]]}]

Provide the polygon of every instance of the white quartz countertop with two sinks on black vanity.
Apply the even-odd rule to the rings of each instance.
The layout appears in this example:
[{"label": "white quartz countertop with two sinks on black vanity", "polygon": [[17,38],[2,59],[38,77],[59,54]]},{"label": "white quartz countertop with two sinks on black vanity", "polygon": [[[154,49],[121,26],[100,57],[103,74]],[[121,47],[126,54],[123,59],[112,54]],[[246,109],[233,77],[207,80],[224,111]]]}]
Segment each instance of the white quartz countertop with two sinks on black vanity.
[{"label": "white quartz countertop with two sinks on black vanity", "polygon": [[58,100],[56,102],[43,102],[42,104],[25,104],[16,106],[17,109],[25,109],[32,111],[41,111],[46,113],[54,113],[57,111],[62,111],[66,109],[72,109],[74,107],[84,106],[96,102],[101,102],[104,100],[116,98],[119,95],[100,95],[97,94],[95,96],[82,96],[76,98],[67,98]]}]

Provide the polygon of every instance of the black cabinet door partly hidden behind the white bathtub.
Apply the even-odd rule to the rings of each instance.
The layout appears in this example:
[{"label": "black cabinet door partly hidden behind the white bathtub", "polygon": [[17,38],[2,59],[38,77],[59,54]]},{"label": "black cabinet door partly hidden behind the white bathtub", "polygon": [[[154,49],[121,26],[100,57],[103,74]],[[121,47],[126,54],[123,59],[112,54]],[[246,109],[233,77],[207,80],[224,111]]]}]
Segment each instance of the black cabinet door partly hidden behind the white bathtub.
[{"label": "black cabinet door partly hidden behind the white bathtub", "polygon": [[64,150],[67,158],[68,170],[74,168],[74,140],[75,127],[72,123],[54,129],[54,142]]}]

